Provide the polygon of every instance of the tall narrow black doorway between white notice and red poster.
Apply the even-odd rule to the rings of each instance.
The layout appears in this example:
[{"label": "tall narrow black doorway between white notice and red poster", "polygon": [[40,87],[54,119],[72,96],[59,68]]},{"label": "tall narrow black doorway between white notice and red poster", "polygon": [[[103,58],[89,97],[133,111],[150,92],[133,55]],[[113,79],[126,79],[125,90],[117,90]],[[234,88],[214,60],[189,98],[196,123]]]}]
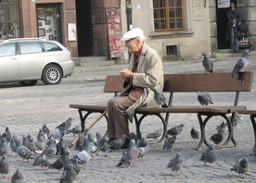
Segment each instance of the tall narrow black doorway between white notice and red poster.
[{"label": "tall narrow black doorway between white notice and red poster", "polygon": [[93,31],[91,1],[76,0],[77,43],[79,56],[91,56],[93,52]]}]

